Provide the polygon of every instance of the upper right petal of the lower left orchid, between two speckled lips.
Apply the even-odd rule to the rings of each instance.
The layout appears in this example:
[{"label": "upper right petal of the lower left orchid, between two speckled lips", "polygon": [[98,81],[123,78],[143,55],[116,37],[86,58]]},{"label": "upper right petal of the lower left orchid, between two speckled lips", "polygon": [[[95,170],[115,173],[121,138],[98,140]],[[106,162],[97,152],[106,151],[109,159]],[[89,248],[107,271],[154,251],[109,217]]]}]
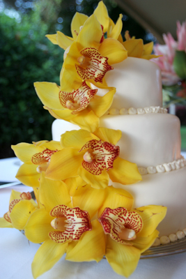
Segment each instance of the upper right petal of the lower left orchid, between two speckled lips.
[{"label": "upper right petal of the lower left orchid, between two speckled lips", "polygon": [[103,189],[94,189],[90,185],[78,188],[72,199],[73,206],[88,211],[91,218],[95,216],[105,197]]}]

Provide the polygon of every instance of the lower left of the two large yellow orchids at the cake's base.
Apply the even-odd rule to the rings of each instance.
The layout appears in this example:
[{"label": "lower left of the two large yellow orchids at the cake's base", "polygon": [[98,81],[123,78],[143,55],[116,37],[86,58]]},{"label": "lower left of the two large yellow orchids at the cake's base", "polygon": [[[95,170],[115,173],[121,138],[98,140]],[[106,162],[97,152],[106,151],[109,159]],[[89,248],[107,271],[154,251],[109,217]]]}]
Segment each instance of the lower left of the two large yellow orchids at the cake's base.
[{"label": "lower left of the two large yellow orchids at the cake's base", "polygon": [[[103,199],[102,195],[102,199]],[[102,202],[102,200],[101,200]],[[32,263],[33,277],[38,278],[59,261],[66,252],[68,245],[78,243],[86,234],[93,239],[88,243],[89,260],[97,262],[105,252],[104,236],[98,222],[92,222],[87,211],[72,205],[68,188],[63,181],[45,179],[44,173],[40,178],[39,189],[40,209],[31,214],[25,235],[33,243],[42,243]],[[98,203],[99,206],[100,203]],[[98,206],[95,211],[98,211]],[[88,234],[87,234],[88,233]],[[91,250],[93,246],[98,250]]]}]

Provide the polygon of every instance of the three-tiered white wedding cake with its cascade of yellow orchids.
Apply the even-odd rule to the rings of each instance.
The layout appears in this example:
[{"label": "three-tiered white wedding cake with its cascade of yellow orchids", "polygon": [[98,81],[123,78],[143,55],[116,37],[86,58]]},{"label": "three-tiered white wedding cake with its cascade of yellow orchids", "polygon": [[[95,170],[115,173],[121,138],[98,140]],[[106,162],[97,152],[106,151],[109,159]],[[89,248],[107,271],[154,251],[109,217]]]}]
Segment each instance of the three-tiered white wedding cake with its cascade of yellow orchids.
[{"label": "three-tiered white wedding cake with its cascade of yellow orchids", "polygon": [[16,177],[36,199],[13,190],[0,218],[0,227],[41,244],[33,278],[64,254],[72,262],[106,257],[129,277],[152,245],[186,235],[180,122],[162,107],[160,68],[148,61],[153,43],[127,31],[123,41],[122,17],[114,24],[100,1],[90,17],[75,14],[72,38],[47,35],[65,50],[60,85],[34,83],[56,118],[53,140],[12,146],[23,162]]}]

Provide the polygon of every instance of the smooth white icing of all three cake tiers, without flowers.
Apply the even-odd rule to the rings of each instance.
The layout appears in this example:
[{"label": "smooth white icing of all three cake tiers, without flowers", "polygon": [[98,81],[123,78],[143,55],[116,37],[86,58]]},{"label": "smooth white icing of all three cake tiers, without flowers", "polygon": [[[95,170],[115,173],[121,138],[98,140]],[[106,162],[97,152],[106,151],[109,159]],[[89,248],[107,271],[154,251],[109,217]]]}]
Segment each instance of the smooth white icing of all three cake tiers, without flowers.
[{"label": "smooth white icing of all three cake tiers, without flowers", "polygon": [[[157,229],[169,236],[186,227],[186,167],[180,155],[180,121],[162,108],[160,68],[145,59],[128,57],[105,75],[108,86],[116,87],[114,101],[100,127],[122,131],[120,157],[137,163],[139,183],[125,188],[134,197],[134,208],[148,204],[167,206],[167,214]],[[104,90],[99,90],[102,95]],[[54,121],[54,140],[66,130],[79,127]]]}]

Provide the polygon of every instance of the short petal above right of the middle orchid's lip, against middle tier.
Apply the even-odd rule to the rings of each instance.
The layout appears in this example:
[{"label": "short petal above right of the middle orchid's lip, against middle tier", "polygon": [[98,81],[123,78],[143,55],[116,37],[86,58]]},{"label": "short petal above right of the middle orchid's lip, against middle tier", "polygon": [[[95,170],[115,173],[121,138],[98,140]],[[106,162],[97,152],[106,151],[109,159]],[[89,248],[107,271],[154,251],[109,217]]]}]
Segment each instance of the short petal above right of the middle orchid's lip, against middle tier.
[{"label": "short petal above right of the middle orchid's lip, against middle tier", "polygon": [[96,135],[103,142],[110,142],[111,144],[116,145],[121,139],[122,133],[121,130],[100,127],[95,130],[94,135]]}]

